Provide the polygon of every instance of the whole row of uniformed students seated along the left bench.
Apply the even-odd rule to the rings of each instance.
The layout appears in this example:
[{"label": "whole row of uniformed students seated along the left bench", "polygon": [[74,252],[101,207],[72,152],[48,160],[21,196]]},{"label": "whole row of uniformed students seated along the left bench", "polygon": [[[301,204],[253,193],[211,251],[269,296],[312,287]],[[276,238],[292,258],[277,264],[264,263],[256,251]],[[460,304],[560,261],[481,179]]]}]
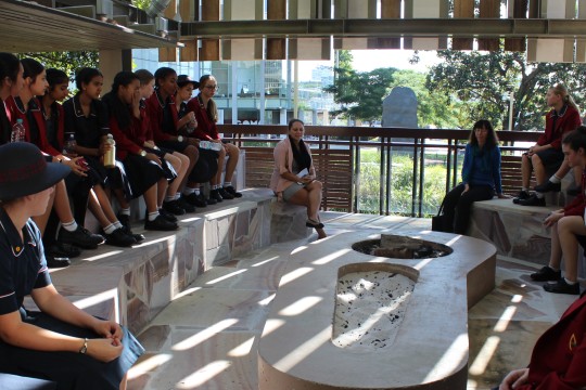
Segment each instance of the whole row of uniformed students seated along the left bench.
[{"label": "whole row of uniformed students seated along the left bench", "polygon": [[[64,72],[0,53],[4,108],[0,109],[0,144],[33,143],[48,161],[71,169],[55,185],[51,207],[34,217],[50,268],[68,265],[80,248],[92,249],[103,242],[125,247],[143,240],[129,224],[130,200],[139,196],[146,206],[144,229],[155,231],[178,229],[177,216],[195,207],[242,196],[231,183],[240,151],[224,143],[216,128],[213,76],[196,82],[168,67],[154,75],[145,69],[120,72],[103,98],[100,70],[79,69],[75,81],[77,93],[63,102],[69,94]],[[191,99],[194,89],[200,93]],[[111,140],[115,165],[106,167],[103,159],[112,152]],[[201,140],[208,141],[208,148],[200,146]],[[218,167],[227,158],[220,184]],[[202,185],[207,182],[212,191],[205,198]],[[87,209],[100,223],[101,234],[84,227]]]}]

